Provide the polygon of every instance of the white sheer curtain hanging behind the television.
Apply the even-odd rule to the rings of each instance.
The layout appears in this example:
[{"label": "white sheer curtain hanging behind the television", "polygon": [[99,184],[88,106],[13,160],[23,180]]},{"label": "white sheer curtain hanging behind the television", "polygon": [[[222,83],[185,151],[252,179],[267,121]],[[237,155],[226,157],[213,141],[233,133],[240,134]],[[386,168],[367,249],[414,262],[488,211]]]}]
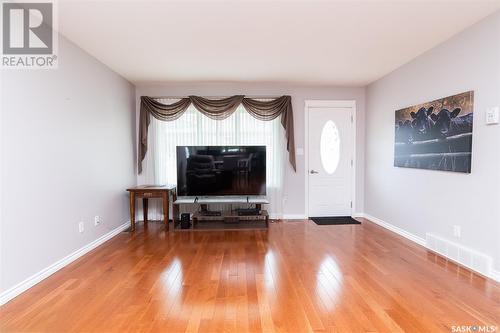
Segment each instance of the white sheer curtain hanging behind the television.
[{"label": "white sheer curtain hanging behind the television", "polygon": [[[158,101],[173,103],[176,100]],[[266,192],[271,202],[267,209],[271,216],[281,216],[286,145],[279,117],[273,121],[261,121],[240,105],[227,119],[212,120],[191,105],[177,120],[152,118],[148,136],[151,145],[144,171],[146,181],[155,184],[177,182],[176,146],[265,145]],[[154,204],[152,208],[151,218],[161,218],[159,205]]]}]

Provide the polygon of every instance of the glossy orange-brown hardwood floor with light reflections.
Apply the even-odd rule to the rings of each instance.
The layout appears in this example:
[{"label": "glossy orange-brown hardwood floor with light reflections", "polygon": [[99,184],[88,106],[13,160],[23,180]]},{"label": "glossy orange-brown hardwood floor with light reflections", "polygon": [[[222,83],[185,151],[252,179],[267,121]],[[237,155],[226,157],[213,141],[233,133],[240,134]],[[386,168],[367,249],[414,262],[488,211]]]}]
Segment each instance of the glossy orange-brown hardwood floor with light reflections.
[{"label": "glossy orange-brown hardwood floor with light reflections", "polygon": [[451,332],[500,285],[375,224],[122,233],[4,305],[1,332]]}]

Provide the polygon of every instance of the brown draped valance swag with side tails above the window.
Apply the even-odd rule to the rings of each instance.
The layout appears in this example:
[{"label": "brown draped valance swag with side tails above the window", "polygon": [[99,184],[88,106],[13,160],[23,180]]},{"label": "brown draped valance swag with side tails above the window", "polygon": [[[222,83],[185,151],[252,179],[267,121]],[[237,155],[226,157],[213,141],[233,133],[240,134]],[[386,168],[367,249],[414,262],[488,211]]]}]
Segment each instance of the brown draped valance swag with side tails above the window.
[{"label": "brown draped valance swag with side tails above the window", "polygon": [[288,159],[293,169],[297,171],[295,164],[292,98],[290,96],[281,96],[266,101],[246,98],[243,95],[223,99],[207,99],[199,96],[189,96],[172,104],[163,104],[152,97],[141,96],[138,148],[139,173],[142,172],[142,161],[148,151],[148,127],[151,121],[151,115],[158,120],[173,121],[182,116],[191,103],[205,116],[215,120],[226,119],[236,111],[236,108],[240,104],[243,104],[245,110],[259,120],[269,121],[281,116],[281,125],[285,128]]}]

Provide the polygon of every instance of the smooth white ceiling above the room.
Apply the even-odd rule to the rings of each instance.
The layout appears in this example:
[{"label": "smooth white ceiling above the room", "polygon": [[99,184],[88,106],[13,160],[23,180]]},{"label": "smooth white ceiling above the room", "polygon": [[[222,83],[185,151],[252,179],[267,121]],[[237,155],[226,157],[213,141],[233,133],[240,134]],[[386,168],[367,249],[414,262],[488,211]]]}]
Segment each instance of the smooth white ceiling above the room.
[{"label": "smooth white ceiling above the room", "polygon": [[364,86],[500,1],[70,1],[59,30],[133,83]]}]

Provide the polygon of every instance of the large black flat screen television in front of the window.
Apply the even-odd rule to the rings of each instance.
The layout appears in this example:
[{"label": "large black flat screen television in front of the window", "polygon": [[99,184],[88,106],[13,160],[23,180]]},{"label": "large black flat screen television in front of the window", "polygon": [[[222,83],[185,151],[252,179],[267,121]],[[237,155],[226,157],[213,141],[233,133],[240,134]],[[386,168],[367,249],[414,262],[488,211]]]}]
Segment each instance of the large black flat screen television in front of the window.
[{"label": "large black flat screen television in front of the window", "polygon": [[266,194],[266,146],[177,146],[178,196]]}]

